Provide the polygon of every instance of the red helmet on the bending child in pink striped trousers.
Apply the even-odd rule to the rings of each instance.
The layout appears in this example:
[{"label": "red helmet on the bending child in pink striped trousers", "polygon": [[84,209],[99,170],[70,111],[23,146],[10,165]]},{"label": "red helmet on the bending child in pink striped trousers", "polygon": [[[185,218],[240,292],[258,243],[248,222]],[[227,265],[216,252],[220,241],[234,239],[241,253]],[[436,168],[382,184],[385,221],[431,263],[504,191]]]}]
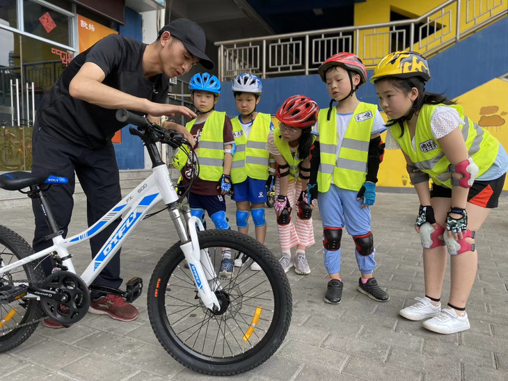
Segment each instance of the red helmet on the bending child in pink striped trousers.
[{"label": "red helmet on the bending child in pink striped trousers", "polygon": [[277,119],[289,127],[310,127],[317,122],[319,107],[304,95],[293,95],[277,110]]}]

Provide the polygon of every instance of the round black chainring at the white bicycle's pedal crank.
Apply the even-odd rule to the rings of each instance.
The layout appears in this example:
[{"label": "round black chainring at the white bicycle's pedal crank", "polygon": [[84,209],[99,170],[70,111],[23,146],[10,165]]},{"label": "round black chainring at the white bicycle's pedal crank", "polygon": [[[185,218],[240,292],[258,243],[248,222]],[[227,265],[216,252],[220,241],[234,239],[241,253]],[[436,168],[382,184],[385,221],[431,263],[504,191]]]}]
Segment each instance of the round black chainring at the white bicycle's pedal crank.
[{"label": "round black chainring at the white bicycle's pedal crank", "polygon": [[56,271],[49,275],[42,288],[65,295],[64,300],[40,298],[40,304],[47,316],[63,325],[80,321],[90,307],[90,291],[79,276],[69,271]]}]

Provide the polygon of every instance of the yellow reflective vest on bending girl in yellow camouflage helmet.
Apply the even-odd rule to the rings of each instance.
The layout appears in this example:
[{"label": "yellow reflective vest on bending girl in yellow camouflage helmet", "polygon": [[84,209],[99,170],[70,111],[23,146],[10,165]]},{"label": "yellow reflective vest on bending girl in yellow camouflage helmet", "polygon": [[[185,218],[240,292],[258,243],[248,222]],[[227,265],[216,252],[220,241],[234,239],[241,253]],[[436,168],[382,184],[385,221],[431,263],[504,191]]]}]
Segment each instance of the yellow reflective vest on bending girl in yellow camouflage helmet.
[{"label": "yellow reflective vest on bending girl in yellow camouflage helmet", "polygon": [[411,145],[411,136],[409,136],[406,122],[404,122],[405,131],[402,138],[400,137],[402,130],[399,124],[390,127],[393,138],[399,143],[402,151],[409,156],[409,159],[415,163],[416,168],[428,173],[435,184],[452,188],[450,181],[452,174],[448,172],[450,161],[446,158],[438,140],[434,138],[431,132],[431,117],[438,106],[456,109],[461,119],[465,122],[465,124],[460,126],[460,129],[464,142],[466,142],[468,154],[473,158],[475,164],[478,165],[478,176],[481,176],[486,170],[491,168],[495,157],[498,156],[499,143],[489,131],[482,129],[482,127],[479,127],[478,124],[464,115],[463,108],[459,105],[424,104],[416,122],[416,151],[413,150]]}]

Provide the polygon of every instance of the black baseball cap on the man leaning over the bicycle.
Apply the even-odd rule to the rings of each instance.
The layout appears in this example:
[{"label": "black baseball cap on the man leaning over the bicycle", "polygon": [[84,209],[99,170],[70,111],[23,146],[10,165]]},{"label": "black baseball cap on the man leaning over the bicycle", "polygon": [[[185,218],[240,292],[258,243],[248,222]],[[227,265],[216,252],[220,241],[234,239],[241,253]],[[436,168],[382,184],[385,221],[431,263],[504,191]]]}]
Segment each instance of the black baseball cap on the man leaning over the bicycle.
[{"label": "black baseball cap on the man leaning over the bicycle", "polygon": [[214,62],[205,54],[205,47],[207,45],[205,32],[203,32],[203,29],[198,24],[189,19],[175,19],[159,31],[158,38],[166,31],[174,35],[178,40],[181,40],[187,50],[193,56],[199,58],[199,63],[205,69],[214,68]]}]

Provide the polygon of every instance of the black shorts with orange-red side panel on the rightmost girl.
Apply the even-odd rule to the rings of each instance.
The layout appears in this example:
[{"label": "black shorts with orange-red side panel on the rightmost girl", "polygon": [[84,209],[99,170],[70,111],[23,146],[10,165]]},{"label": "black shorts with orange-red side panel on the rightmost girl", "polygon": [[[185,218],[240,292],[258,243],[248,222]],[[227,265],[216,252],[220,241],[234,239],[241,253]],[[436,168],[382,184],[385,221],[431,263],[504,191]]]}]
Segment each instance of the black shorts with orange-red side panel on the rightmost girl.
[{"label": "black shorts with orange-red side panel on the rightmost girl", "polygon": [[[476,180],[469,189],[468,202],[484,208],[497,208],[502,187],[505,185],[505,177],[506,173],[495,180]],[[452,197],[452,189],[446,186],[432,184],[430,197],[450,198]]]}]

